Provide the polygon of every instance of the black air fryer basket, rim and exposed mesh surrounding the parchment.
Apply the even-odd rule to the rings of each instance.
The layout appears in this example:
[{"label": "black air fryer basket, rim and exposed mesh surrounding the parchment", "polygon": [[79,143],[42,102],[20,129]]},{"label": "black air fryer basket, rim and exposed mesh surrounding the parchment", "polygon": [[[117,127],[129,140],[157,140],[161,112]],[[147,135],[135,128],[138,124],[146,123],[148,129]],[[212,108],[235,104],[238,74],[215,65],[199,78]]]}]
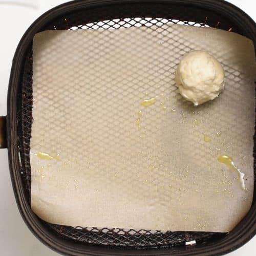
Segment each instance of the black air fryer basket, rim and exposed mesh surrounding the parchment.
[{"label": "black air fryer basket, rim and exposed mesh surrounding the parchment", "polygon": [[[119,29],[152,25],[161,27],[166,23],[215,27],[237,32],[251,38],[256,46],[254,22],[238,8],[223,1],[210,0],[72,1],[38,18],[20,41],[14,56],[8,92],[7,138],[13,189],[19,210],[31,231],[42,242],[61,253],[218,255],[241,246],[255,234],[255,194],[250,212],[230,233],[162,233],[152,230],[69,227],[44,222],[30,208],[29,153],[34,34],[44,30]],[[186,248],[185,242],[192,240],[196,240],[197,245]]]}]

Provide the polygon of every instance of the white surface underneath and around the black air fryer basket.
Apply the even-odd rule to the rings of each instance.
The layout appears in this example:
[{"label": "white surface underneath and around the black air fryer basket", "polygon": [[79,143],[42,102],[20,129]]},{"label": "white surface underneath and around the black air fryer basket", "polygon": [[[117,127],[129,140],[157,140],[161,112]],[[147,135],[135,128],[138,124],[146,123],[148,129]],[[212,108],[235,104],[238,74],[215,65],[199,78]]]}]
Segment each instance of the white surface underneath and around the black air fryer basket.
[{"label": "white surface underneath and around the black air fryer basket", "polygon": [[[26,29],[42,13],[65,3],[65,0],[16,0],[19,4],[7,4],[0,0],[0,116],[6,115],[6,98],[12,58],[18,42]],[[33,7],[22,3],[33,3]],[[216,1],[217,3],[218,1]],[[229,0],[256,20],[254,0]],[[41,244],[29,231],[13,195],[7,150],[0,150],[0,250],[3,256],[52,256],[58,255]],[[253,256],[256,251],[256,237],[228,256]]]}]

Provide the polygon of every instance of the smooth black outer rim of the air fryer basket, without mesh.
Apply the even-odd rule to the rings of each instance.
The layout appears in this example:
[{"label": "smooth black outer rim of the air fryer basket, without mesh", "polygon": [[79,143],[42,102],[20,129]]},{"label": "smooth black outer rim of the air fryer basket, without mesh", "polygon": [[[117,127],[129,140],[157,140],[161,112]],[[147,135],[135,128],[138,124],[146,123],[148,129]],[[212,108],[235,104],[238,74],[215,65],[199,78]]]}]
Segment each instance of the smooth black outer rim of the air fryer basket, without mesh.
[{"label": "smooth black outer rim of the air fryer basket, without mesh", "polygon": [[209,242],[207,243],[207,246],[197,245],[191,247],[183,246],[150,250],[112,249],[105,246],[88,245],[76,241],[65,240],[56,233],[53,233],[49,228],[47,228],[47,226],[42,224],[42,222],[38,220],[30,208],[25,196],[22,179],[20,177],[20,166],[17,150],[17,95],[26,51],[32,44],[33,36],[38,31],[44,30],[47,24],[60,16],[79,11],[80,9],[91,9],[102,6],[120,6],[122,4],[161,4],[163,5],[163,8],[164,5],[171,4],[177,6],[193,6],[194,8],[211,10],[229,18],[232,23],[236,24],[244,31],[244,34],[247,37],[253,40],[254,46],[256,46],[256,25],[253,20],[239,8],[223,0],[78,0],[62,4],[41,15],[30,26],[19,42],[13,58],[8,89],[6,118],[9,167],[12,186],[20,214],[30,230],[42,243],[49,246],[53,250],[66,255],[222,255],[237,249],[251,239],[256,232],[255,194],[253,205],[247,216],[224,239],[216,242]]}]

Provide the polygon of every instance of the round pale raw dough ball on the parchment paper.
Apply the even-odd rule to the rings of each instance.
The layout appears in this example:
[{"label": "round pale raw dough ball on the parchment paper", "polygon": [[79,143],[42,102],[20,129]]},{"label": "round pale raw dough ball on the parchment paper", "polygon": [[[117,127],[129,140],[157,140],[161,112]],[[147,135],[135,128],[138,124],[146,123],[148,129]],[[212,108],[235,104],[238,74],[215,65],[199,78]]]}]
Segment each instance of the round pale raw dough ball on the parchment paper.
[{"label": "round pale raw dough ball on the parchment paper", "polygon": [[219,96],[225,74],[215,57],[205,51],[191,51],[181,59],[175,80],[180,94],[197,106]]}]

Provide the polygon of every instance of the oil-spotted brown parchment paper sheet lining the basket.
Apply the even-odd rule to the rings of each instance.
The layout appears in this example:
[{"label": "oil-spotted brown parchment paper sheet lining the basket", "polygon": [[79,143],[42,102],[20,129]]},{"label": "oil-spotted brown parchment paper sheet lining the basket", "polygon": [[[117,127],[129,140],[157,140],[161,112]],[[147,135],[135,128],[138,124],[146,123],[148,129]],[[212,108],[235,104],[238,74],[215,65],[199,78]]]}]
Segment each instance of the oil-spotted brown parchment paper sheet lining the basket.
[{"label": "oil-spotted brown parchment paper sheet lining the basket", "polygon": [[[220,97],[197,108],[174,81],[191,50],[214,55],[226,75]],[[36,34],[33,211],[71,226],[230,231],[252,202],[254,60],[251,40],[218,29]],[[223,154],[245,174],[245,190],[218,162]]]}]

